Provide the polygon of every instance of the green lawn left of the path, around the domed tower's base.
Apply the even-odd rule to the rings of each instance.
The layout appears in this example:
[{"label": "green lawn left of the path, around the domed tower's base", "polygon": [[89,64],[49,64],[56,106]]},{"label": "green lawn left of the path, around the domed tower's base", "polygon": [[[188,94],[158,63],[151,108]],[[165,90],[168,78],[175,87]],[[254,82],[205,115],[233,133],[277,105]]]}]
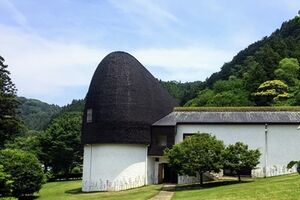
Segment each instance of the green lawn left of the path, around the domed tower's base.
[{"label": "green lawn left of the path, around the domed tower's base", "polygon": [[81,181],[62,181],[43,185],[37,195],[38,200],[143,200],[153,197],[160,189],[161,185],[150,185],[121,192],[82,193]]}]

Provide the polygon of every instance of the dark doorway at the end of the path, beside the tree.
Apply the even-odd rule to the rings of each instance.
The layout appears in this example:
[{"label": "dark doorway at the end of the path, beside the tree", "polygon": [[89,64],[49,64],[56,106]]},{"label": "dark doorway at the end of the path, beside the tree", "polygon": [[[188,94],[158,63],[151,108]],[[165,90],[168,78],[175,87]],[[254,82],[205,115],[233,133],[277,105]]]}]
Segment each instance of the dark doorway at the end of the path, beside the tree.
[{"label": "dark doorway at the end of the path, beside the tree", "polygon": [[167,163],[158,165],[158,183],[177,183],[177,172]]}]

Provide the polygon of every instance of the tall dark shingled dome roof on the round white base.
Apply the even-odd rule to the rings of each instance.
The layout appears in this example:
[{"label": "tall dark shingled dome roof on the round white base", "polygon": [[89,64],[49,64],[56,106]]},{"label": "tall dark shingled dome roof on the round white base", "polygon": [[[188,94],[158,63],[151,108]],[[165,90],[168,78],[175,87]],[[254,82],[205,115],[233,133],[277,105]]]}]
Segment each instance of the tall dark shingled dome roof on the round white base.
[{"label": "tall dark shingled dome roof on the round white base", "polygon": [[[151,124],[172,112],[176,101],[133,56],[107,55],[86,96],[82,142],[150,144]],[[92,122],[87,123],[87,109]]]}]

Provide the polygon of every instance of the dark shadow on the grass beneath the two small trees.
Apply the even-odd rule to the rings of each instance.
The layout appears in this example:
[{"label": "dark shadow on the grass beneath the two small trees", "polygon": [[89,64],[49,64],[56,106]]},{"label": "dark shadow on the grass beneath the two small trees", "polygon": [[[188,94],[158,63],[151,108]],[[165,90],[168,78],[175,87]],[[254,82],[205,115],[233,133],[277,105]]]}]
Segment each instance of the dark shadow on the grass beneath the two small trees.
[{"label": "dark shadow on the grass beneath the two small trees", "polygon": [[202,186],[200,184],[191,184],[191,185],[178,185],[175,187],[175,191],[182,190],[199,190],[199,189],[209,189],[214,187],[226,186],[226,185],[234,185],[234,184],[245,184],[251,183],[253,181],[237,181],[237,180],[221,180],[216,182],[208,182],[204,183]]}]

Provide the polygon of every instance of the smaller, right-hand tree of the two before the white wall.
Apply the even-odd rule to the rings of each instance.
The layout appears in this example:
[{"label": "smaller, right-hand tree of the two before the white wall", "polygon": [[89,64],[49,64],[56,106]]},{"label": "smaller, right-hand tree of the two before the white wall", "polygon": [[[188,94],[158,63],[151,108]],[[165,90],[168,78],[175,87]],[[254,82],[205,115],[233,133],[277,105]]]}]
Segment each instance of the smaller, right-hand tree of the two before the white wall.
[{"label": "smaller, right-hand tree of the two before the white wall", "polygon": [[223,151],[223,167],[235,171],[241,181],[241,171],[254,169],[259,164],[261,153],[258,149],[250,150],[248,145],[242,142],[231,144]]}]

